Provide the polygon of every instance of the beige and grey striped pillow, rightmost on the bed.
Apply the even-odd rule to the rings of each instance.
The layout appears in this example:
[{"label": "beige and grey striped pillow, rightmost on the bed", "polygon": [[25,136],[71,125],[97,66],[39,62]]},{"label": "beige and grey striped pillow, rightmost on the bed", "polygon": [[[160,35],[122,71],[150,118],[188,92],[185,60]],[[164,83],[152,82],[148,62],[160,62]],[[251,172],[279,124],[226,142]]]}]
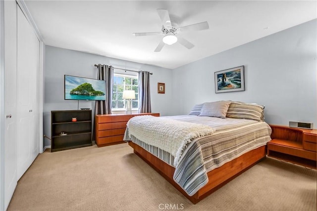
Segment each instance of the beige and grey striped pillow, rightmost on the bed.
[{"label": "beige and grey striped pillow, rightmost on the bed", "polygon": [[263,122],[264,106],[253,103],[231,102],[226,117]]}]

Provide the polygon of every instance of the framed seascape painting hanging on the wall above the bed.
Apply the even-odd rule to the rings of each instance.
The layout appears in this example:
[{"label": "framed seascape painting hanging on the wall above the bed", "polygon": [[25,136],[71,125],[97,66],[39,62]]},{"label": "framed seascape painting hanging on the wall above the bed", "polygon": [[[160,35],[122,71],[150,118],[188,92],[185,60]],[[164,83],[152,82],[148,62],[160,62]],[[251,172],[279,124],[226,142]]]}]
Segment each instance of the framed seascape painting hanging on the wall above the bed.
[{"label": "framed seascape painting hanging on the wall above the bed", "polygon": [[214,73],[215,93],[244,91],[244,65]]}]

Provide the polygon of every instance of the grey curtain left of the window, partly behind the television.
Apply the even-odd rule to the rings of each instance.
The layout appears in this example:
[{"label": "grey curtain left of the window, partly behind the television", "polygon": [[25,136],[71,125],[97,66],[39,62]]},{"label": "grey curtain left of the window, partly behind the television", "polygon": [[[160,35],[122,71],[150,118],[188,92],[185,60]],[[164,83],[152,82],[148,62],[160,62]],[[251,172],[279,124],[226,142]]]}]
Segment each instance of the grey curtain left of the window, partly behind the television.
[{"label": "grey curtain left of the window, partly behind the television", "polygon": [[106,81],[106,100],[96,100],[95,115],[111,114],[113,67],[99,64],[97,79]]}]

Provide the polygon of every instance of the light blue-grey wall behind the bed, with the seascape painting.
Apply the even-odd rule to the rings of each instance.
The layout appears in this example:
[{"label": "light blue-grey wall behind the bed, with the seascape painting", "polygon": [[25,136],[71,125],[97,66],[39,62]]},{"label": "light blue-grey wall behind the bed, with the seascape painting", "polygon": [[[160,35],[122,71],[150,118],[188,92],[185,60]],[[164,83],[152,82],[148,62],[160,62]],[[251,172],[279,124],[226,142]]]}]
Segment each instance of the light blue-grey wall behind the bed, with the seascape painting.
[{"label": "light blue-grey wall behind the bed, with the seascape painting", "polygon": [[[265,105],[265,122],[317,128],[317,21],[292,27],[174,69],[173,113],[195,103],[236,100]],[[245,66],[245,91],[215,93],[214,72]]]}]

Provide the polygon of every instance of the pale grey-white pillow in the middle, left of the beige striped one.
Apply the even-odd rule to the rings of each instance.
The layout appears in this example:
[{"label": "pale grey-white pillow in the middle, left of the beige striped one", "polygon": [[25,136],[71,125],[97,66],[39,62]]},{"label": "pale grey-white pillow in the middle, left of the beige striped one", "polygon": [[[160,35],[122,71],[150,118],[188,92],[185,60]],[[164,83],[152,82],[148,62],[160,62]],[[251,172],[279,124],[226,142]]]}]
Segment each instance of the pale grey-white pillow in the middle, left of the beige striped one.
[{"label": "pale grey-white pillow in the middle, left of the beige striped one", "polygon": [[217,101],[204,103],[199,116],[226,118],[231,101]]}]

